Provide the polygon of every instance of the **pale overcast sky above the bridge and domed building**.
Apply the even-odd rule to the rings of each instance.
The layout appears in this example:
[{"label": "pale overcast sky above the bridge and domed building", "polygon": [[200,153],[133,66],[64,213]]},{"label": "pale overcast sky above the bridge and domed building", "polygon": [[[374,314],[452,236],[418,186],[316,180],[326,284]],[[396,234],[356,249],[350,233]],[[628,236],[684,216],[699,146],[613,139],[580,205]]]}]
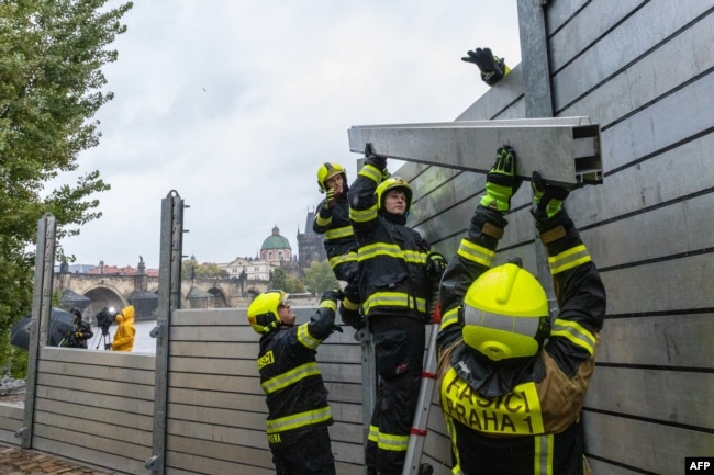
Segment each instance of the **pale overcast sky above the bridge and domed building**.
[{"label": "pale overcast sky above the bridge and domed building", "polygon": [[112,190],[62,242],[83,264],[157,268],[172,190],[186,256],[255,257],[274,226],[297,253],[320,163],[356,177],[349,127],[453,121],[487,90],[468,49],[521,61],[516,0],[135,0],[123,21],[78,170]]}]

